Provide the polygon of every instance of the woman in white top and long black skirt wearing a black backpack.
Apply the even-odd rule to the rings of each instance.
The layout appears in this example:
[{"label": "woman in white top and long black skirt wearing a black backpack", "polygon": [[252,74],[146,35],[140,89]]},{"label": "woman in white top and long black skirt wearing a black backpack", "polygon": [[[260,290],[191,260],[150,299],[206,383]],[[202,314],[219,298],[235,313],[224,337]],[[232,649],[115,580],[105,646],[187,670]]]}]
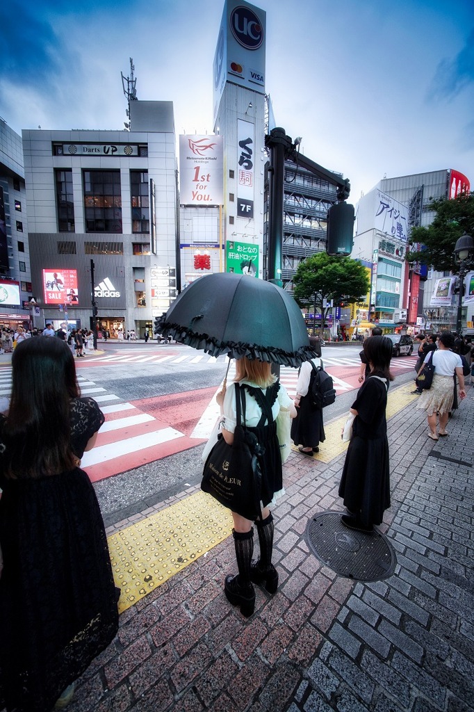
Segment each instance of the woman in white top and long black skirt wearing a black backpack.
[{"label": "woman in white top and long black skirt wearing a black backpack", "polygon": [[313,452],[319,452],[320,442],[326,439],[322,419],[322,409],[312,403],[311,389],[316,377],[316,368],[322,367],[321,344],[317,336],[310,336],[310,346],[317,353],[311,361],[302,363],[296,384],[295,406],[297,416],[291,424],[291,439],[302,455],[312,457]]}]

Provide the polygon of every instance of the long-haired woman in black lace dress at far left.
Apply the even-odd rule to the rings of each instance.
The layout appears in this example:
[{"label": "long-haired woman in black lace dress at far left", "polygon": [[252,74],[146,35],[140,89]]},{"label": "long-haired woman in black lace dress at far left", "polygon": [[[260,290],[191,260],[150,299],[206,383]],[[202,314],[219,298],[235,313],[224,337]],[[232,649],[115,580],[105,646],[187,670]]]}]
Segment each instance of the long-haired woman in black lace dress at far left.
[{"label": "long-haired woman in black lace dress at far left", "polygon": [[22,342],[12,366],[0,419],[0,709],[49,712],[117,632],[102,515],[78,467],[104,417],[79,397],[63,340]]}]

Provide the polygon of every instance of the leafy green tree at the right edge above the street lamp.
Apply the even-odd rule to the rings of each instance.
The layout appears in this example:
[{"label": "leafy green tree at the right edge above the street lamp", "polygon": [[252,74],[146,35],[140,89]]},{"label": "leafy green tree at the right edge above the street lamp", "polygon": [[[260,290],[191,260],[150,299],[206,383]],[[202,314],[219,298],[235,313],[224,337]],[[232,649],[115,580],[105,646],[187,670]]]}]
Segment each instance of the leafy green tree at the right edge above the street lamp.
[{"label": "leafy green tree at the right edge above the street lamp", "polygon": [[474,193],[454,200],[433,200],[430,208],[436,216],[427,227],[414,227],[409,244],[421,243],[420,251],[407,253],[408,262],[421,262],[440,272],[457,272],[454,248],[466,232],[474,237]]}]

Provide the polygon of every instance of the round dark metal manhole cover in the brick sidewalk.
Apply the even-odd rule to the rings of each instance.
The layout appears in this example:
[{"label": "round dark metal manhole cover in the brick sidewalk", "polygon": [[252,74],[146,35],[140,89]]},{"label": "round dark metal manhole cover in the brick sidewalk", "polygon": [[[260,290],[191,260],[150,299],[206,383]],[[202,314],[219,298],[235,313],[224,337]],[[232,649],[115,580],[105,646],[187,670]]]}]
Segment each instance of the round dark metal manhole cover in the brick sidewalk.
[{"label": "round dark metal manhole cover in the brick sidewalk", "polygon": [[357,581],[379,581],[391,576],[396,566],[395,550],[379,530],[370,534],[348,529],[342,512],[323,512],[306,527],[312,553],[340,576]]}]

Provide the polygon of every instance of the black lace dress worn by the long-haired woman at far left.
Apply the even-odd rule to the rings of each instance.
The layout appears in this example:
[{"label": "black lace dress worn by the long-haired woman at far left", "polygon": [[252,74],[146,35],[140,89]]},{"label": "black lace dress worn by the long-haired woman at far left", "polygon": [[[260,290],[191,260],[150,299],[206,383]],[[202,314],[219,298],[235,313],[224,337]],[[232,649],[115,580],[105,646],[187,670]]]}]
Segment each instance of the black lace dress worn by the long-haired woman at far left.
[{"label": "black lace dress worn by the long-haired woman at far left", "polygon": [[[92,399],[73,401],[78,457],[102,422]],[[104,524],[80,468],[39,479],[0,473],[0,487],[0,709],[49,712],[117,632]]]}]

